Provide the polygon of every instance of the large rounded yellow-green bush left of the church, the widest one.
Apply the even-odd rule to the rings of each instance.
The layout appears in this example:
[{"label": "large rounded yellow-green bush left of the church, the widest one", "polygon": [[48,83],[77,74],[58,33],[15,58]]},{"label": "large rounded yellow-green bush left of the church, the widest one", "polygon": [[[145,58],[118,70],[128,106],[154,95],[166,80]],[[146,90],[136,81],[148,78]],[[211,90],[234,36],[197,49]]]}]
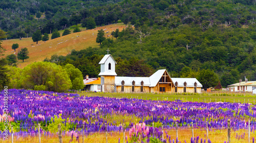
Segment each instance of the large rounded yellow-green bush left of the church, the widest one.
[{"label": "large rounded yellow-green bush left of the church, the widest one", "polygon": [[22,70],[19,82],[25,89],[65,92],[72,88],[66,70],[49,62],[35,62],[26,66]]}]

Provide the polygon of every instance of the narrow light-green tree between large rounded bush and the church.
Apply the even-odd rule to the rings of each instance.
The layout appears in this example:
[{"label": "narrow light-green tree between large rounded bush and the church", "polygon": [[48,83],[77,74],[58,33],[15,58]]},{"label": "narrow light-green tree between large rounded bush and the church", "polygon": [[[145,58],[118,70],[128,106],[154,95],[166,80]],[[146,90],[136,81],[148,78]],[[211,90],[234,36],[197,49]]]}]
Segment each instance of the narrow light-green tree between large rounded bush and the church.
[{"label": "narrow light-green tree between large rounded bush and the church", "polygon": [[69,74],[70,80],[72,82],[72,90],[81,90],[83,89],[83,76],[82,72],[75,68],[71,64],[67,64],[64,69]]}]

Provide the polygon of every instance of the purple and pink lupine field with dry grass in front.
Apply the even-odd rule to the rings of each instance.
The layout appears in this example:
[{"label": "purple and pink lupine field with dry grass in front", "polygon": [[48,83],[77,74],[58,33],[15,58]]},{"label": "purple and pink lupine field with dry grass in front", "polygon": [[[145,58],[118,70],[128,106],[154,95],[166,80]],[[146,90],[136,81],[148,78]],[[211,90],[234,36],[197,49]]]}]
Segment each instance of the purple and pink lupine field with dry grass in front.
[{"label": "purple and pink lupine field with dry grass in front", "polygon": [[38,123],[42,142],[58,142],[59,123],[63,142],[81,142],[82,132],[84,142],[227,142],[228,120],[230,142],[248,142],[249,124],[250,142],[256,137],[256,106],[250,103],[152,101],[10,89],[9,137],[5,139],[3,91],[0,95],[0,142],[10,142],[11,125],[14,142],[38,142]]}]

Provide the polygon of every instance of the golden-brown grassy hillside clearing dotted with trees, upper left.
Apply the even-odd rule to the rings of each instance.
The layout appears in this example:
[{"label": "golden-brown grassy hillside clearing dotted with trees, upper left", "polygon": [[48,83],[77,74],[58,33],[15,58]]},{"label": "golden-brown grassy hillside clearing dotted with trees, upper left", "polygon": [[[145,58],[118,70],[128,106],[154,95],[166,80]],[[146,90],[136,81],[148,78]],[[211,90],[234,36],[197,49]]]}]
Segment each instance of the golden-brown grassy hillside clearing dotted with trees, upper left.
[{"label": "golden-brown grassy hillside clearing dotted with trees, upper left", "polygon": [[[19,49],[27,47],[29,50],[29,56],[30,58],[27,60],[18,61],[18,67],[24,68],[25,66],[33,63],[33,62],[40,62],[43,61],[45,58],[51,58],[51,55],[57,54],[57,55],[67,55],[71,52],[72,49],[75,50],[81,50],[88,47],[96,47],[99,46],[98,43],[96,43],[96,37],[98,30],[106,29],[105,32],[109,31],[112,32],[116,30],[116,28],[119,28],[119,30],[122,30],[124,27],[124,24],[118,23],[118,24],[111,24],[106,26],[97,27],[94,30],[86,30],[85,28],[81,28],[82,32],[78,33],[72,33],[66,36],[61,36],[59,38],[48,40],[46,42],[44,41],[38,41],[38,44],[36,42],[33,42],[32,38],[23,38],[22,40],[19,39],[11,39],[11,40],[3,40],[3,46],[7,49],[5,52],[6,55],[13,54],[14,50],[11,48],[13,43],[18,43],[19,48],[16,49],[16,55]],[[62,35],[63,31],[59,31],[60,35]],[[71,29],[71,32],[73,32],[73,29]],[[105,34],[105,36],[110,35],[110,33]],[[49,35],[51,39],[51,34]],[[112,38],[112,37],[111,37]]]}]

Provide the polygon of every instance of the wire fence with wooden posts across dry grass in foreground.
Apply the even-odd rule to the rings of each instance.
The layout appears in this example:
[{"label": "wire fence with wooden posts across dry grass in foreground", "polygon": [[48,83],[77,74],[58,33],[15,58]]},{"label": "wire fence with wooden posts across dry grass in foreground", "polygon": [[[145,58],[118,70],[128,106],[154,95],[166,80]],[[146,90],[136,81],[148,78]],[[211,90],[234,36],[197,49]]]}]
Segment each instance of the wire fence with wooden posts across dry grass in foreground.
[{"label": "wire fence with wooden posts across dry grass in foreground", "polygon": [[[250,123],[250,122],[248,122]],[[234,141],[234,142],[254,142],[254,137],[256,134],[254,133],[255,129],[250,129],[250,124],[246,129],[236,130],[236,126],[231,126],[230,121],[228,121],[227,127],[222,128],[208,128],[208,124],[206,128],[194,128],[193,125],[196,123],[189,124],[190,126],[178,127],[178,123],[175,124],[175,129],[164,128],[164,126],[154,127],[154,123],[150,127],[150,129],[145,129],[146,127],[138,127],[138,125],[131,126],[120,126],[121,130],[119,131],[108,131],[106,128],[105,131],[98,132],[87,132],[85,130],[84,125],[82,125],[81,130],[76,131],[61,131],[61,125],[58,125],[58,132],[50,133],[46,131],[34,132],[34,133],[14,133],[13,127],[12,131],[8,133],[8,136],[11,138],[3,138],[3,134],[1,134],[1,138],[3,141],[11,141],[11,142],[127,142],[131,138],[134,140],[137,139],[139,142],[143,142],[143,140],[147,140],[148,138],[156,138],[162,142],[173,142],[176,141],[191,141],[198,142],[199,139],[206,140],[207,142],[224,142],[224,141]],[[107,125],[105,125],[107,126]],[[40,130],[40,125],[38,126],[38,130]],[[252,134],[250,136],[250,134]]]}]

